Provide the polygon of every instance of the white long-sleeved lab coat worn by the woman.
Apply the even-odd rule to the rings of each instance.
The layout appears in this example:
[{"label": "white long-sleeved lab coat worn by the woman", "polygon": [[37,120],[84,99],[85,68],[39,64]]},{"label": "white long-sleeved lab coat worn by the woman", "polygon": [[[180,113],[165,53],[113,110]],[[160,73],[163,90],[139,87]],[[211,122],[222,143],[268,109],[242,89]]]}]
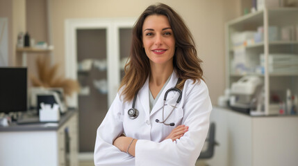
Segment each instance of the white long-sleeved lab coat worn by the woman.
[{"label": "white long-sleeved lab coat worn by the woman", "polygon": [[[127,111],[132,108],[131,102],[122,102],[117,94],[104,121],[97,129],[94,149],[95,165],[195,165],[204,145],[209,127],[209,116],[212,109],[208,88],[203,80],[200,83],[186,80],[181,102],[166,121],[174,122],[173,127],[157,123],[162,119],[163,98],[165,91],[174,87],[177,82],[176,73],[172,73],[165,89],[149,113],[149,78],[138,92],[135,109],[138,118],[131,120]],[[193,84],[194,83],[194,84]],[[171,91],[167,95],[165,117],[172,110],[179,93]],[[176,126],[185,124],[188,132],[179,140],[164,140]],[[135,145],[135,157],[120,151],[113,146],[113,140],[122,133],[138,139]]]}]

